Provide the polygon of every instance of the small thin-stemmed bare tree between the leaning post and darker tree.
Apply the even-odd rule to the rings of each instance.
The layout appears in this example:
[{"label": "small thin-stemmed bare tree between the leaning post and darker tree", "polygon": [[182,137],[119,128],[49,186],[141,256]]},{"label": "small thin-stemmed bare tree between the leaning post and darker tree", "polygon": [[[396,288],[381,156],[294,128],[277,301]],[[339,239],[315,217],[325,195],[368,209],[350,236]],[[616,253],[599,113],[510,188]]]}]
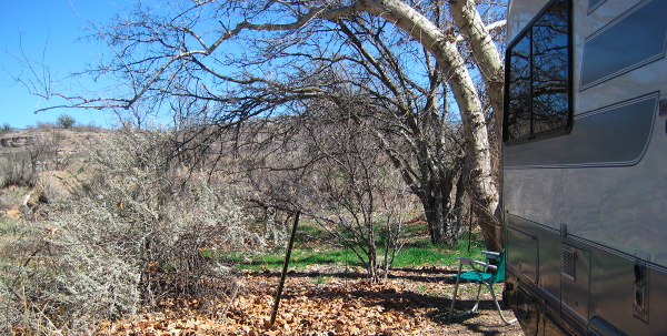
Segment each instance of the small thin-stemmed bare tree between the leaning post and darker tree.
[{"label": "small thin-stemmed bare tree between the leaning post and darker tree", "polygon": [[303,124],[308,152],[319,157],[309,176],[317,191],[310,213],[377,281],[402,246],[402,225],[414,200],[397,183],[400,173],[377,150],[374,135],[347,111],[329,108],[318,106],[313,114],[326,115]]}]

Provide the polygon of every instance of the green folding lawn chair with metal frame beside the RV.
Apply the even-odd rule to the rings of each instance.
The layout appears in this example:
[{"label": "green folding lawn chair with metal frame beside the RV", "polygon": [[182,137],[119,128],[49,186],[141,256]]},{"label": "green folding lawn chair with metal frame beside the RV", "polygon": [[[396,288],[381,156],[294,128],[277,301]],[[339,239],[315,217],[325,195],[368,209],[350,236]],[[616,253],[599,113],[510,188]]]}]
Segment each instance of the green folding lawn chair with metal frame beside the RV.
[{"label": "green folding lawn chair with metal frame beside the RV", "polygon": [[[498,309],[498,314],[500,314],[500,318],[502,318],[502,322],[505,322],[506,324],[512,324],[512,323],[517,322],[517,319],[515,318],[515,319],[508,320],[505,317],[505,315],[502,315],[502,309],[500,309],[500,304],[498,303],[498,298],[496,298],[496,294],[494,293],[494,284],[505,281],[505,253],[504,252],[488,252],[488,251],[482,251],[482,253],[486,255],[486,262],[480,262],[480,261],[475,261],[475,259],[464,258],[464,257],[457,257],[457,259],[459,261],[459,268],[458,268],[458,274],[454,275],[454,277],[456,277],[456,286],[454,287],[454,296],[451,298],[451,308],[449,309],[449,320],[451,322],[451,316],[454,314],[454,304],[456,303],[456,295],[458,293],[458,285],[462,278],[468,282],[479,284],[479,288],[477,288],[477,299],[475,302],[475,306],[472,307],[472,309],[461,313],[461,314],[458,314],[455,316],[455,318],[465,316],[470,313],[475,313],[477,310],[477,307],[479,307],[479,296],[481,294],[481,286],[485,285],[491,293],[491,296],[494,297],[494,303],[496,304],[496,308]],[[490,264],[491,259],[496,261],[495,265]],[[464,269],[464,265],[469,266],[471,268],[471,271],[461,273],[461,271]],[[480,267],[480,268],[478,268],[478,267]],[[489,269],[491,272],[482,272],[486,269]]]}]

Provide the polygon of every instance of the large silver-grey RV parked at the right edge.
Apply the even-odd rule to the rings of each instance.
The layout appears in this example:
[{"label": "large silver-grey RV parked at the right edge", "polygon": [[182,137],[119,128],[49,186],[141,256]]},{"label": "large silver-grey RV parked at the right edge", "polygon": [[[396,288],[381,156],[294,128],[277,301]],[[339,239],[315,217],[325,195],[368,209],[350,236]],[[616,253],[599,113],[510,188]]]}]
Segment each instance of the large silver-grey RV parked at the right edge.
[{"label": "large silver-grey RV parked at the right edge", "polygon": [[667,0],[507,23],[507,304],[526,335],[667,335]]}]

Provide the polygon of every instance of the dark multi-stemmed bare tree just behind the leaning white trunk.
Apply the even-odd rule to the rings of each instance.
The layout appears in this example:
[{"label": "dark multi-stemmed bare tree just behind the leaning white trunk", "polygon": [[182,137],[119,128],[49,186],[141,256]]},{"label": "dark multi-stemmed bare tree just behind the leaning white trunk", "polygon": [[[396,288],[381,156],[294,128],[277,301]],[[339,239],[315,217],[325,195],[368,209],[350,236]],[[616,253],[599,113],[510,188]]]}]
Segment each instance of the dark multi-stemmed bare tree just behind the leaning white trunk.
[{"label": "dark multi-stemmed bare tree just behind the leaning white trunk", "polygon": [[[341,34],[356,51],[348,58],[356,57],[364,71],[359,79],[349,79],[360,90],[355,102],[340,96],[334,101],[342,111],[366,105],[356,110],[366,111],[362,115],[349,113],[375,135],[419,197],[432,243],[455,244],[468,207],[461,176],[465,141],[460,123],[452,121],[448,111],[442,73],[420,44],[405,41],[375,20],[338,21]],[[400,67],[406,63],[411,67]],[[416,79],[415,72],[422,79]]]}]

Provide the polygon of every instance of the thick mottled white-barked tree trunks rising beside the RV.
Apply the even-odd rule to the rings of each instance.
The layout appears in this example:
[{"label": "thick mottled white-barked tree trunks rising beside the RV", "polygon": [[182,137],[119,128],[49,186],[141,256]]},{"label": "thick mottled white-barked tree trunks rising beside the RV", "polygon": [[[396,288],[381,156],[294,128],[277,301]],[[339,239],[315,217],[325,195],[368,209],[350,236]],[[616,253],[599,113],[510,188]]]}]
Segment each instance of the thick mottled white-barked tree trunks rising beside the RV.
[{"label": "thick mottled white-barked tree trunks rising beside the RV", "polygon": [[[455,39],[447,35],[434,22],[404,1],[366,0],[362,2],[366,11],[374,16],[387,19],[420,42],[434,54],[440,67],[442,67],[447,83],[454,92],[456,103],[460,111],[466,138],[468,140],[468,153],[470,155],[470,175],[468,177],[470,181],[472,200],[484,210],[481,213],[478,213],[482,216],[480,220],[495,223],[494,214],[498,211],[499,192],[492,169],[491,143],[489,141],[488,125],[482,111],[479,93],[475,88],[461,52],[456,45]],[[457,7],[455,6],[452,8]],[[456,10],[452,10],[452,12],[456,12]],[[492,93],[489,92],[492,94],[491,99],[495,102],[494,109],[496,110],[498,106],[498,110],[496,111],[500,111],[502,86],[501,81],[499,81],[501,77],[498,78],[498,75],[502,73],[502,70],[501,65],[499,65],[498,51],[495,50],[495,44],[492,44],[488,31],[478,27],[481,24],[479,14],[477,14],[477,17],[470,14],[470,8],[465,6],[461,7],[460,12],[462,18],[460,19],[460,23],[468,26],[468,28],[461,29],[461,31],[468,31],[470,41],[475,41],[470,44],[474,44],[474,51],[478,49],[476,54],[479,53],[479,59],[482,60],[480,68],[485,69],[482,71],[482,73],[486,73],[484,74],[485,82],[488,80],[487,86],[494,88],[495,90]],[[475,11],[475,13],[477,11]],[[499,114],[499,112],[496,113]],[[485,215],[488,217],[485,218]],[[491,235],[487,236],[487,247],[497,250],[499,247],[497,245],[500,243],[497,231],[485,231],[485,234]]]}]

